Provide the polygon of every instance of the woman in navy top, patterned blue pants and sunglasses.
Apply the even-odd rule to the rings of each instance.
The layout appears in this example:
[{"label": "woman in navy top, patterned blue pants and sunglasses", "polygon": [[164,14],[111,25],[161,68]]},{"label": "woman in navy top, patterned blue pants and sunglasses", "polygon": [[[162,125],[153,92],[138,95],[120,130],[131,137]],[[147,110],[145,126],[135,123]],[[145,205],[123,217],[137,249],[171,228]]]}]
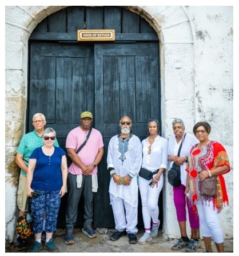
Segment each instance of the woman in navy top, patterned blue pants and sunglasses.
[{"label": "woman in navy top, patterned blue pants and sunglasses", "polygon": [[[34,253],[42,249],[41,235],[44,214],[46,215],[44,247],[51,252],[58,252],[52,236],[57,229],[61,198],[66,192],[67,163],[66,152],[53,145],[55,135],[53,128],[46,128],[43,134],[44,145],[36,148],[29,157],[27,196],[32,197],[31,213],[35,242],[31,252]],[[34,196],[33,192],[37,196]]]}]

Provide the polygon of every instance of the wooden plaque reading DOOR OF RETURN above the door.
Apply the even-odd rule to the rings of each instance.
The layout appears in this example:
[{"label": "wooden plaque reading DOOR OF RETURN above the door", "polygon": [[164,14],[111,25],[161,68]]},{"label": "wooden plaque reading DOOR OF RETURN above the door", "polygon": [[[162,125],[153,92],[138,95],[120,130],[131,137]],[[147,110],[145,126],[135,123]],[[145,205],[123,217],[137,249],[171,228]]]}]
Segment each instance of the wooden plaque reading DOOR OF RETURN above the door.
[{"label": "wooden plaque reading DOOR OF RETURN above the door", "polygon": [[78,29],[77,41],[115,41],[115,30]]}]

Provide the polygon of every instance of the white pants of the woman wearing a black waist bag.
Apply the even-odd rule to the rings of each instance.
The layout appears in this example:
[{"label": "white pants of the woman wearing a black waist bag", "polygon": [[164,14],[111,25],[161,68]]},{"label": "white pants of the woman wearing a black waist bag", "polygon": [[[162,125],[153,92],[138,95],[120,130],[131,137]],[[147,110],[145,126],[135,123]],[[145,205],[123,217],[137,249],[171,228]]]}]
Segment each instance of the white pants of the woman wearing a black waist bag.
[{"label": "white pants of the woman wearing a black waist bag", "polygon": [[139,177],[138,182],[142,201],[144,227],[145,229],[150,229],[151,219],[154,223],[158,222],[158,215],[160,214],[158,198],[164,184],[164,177],[161,175],[160,180],[158,181],[158,187],[154,186],[153,188],[149,186],[151,180]]}]

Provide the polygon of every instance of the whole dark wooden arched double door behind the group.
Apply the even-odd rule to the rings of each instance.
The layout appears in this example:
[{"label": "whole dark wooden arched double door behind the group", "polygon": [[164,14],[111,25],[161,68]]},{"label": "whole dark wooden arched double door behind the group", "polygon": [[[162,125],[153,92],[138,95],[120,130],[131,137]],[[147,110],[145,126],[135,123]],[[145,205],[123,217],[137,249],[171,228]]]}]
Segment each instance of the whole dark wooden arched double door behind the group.
[{"label": "whole dark wooden arched double door behind the group", "polygon": [[[76,41],[77,29],[115,29],[115,42]],[[144,139],[150,118],[160,120],[158,37],[137,14],[117,6],[71,6],[45,18],[29,40],[29,101],[26,131],[34,113],[46,116],[60,147],[79,125],[79,114],[91,111],[93,127],[103,136],[105,154],[98,166],[94,225],[114,227],[109,202],[107,147],[119,132],[121,116],[133,120],[133,132]],[[67,194],[62,198],[58,227],[65,226]],[[77,226],[83,223],[83,200]],[[162,211],[161,211],[162,212]],[[141,202],[138,207],[142,225]],[[161,218],[162,220],[162,218]],[[162,221],[161,221],[162,223]]]}]

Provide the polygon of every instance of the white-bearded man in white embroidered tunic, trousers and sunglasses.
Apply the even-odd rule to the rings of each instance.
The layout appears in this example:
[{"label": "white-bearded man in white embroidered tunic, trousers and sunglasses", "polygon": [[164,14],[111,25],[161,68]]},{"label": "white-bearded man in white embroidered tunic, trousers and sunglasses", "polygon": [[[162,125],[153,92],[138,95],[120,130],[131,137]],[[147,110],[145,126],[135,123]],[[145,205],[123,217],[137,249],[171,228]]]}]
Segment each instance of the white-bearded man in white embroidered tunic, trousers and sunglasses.
[{"label": "white-bearded man in white embroidered tunic, trousers and sunglasses", "polygon": [[115,230],[110,239],[117,241],[129,235],[129,243],[137,243],[138,183],[137,176],[142,162],[140,139],[131,131],[128,116],[120,120],[121,132],[110,139],[107,168],[110,171],[110,204],[113,209]]}]

